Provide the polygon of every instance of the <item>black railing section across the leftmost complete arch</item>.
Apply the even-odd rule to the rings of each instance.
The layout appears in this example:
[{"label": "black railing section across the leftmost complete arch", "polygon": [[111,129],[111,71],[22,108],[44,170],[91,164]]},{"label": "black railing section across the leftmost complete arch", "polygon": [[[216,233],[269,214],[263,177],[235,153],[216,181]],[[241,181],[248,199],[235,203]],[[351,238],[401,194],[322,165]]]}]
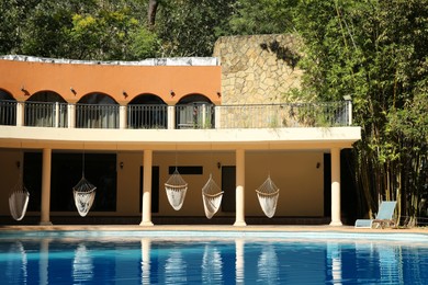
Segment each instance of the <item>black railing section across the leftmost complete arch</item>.
[{"label": "black railing section across the leftmost complete arch", "polygon": [[25,102],[24,125],[67,127],[67,103]]}]

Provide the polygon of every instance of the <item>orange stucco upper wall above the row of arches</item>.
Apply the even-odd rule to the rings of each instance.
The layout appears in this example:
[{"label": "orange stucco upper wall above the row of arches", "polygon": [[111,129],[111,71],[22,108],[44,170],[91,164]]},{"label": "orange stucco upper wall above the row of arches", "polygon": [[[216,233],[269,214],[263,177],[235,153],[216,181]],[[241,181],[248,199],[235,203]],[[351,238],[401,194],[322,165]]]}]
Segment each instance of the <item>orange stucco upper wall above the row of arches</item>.
[{"label": "orange stucco upper wall above the row of arches", "polygon": [[139,94],[151,93],[173,105],[188,94],[199,93],[219,104],[221,66],[48,64],[0,59],[0,89],[18,101],[25,101],[38,91],[54,91],[67,102],[76,103],[88,93],[99,92],[125,105]]}]

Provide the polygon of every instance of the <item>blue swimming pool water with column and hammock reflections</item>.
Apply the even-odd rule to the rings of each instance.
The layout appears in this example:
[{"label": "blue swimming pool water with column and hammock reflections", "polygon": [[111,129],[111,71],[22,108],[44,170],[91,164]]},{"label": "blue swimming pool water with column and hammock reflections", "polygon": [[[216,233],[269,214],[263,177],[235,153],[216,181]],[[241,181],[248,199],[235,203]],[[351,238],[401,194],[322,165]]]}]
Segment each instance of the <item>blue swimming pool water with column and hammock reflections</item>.
[{"label": "blue swimming pool water with column and hammock reflections", "polygon": [[2,235],[0,284],[428,284],[426,237],[159,235]]}]

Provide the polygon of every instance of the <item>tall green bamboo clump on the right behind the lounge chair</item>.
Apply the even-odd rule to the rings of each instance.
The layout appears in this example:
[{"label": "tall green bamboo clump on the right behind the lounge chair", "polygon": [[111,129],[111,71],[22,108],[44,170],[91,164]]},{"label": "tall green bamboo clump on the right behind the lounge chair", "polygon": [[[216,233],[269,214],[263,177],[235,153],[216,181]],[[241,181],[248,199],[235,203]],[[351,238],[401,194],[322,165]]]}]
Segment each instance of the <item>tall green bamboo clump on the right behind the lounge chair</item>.
[{"label": "tall green bamboo clump on the right behind the lounge chair", "polygon": [[301,1],[294,23],[305,42],[304,90],[318,99],[351,94],[356,180],[369,208],[398,200],[416,216],[427,193],[428,1]]}]

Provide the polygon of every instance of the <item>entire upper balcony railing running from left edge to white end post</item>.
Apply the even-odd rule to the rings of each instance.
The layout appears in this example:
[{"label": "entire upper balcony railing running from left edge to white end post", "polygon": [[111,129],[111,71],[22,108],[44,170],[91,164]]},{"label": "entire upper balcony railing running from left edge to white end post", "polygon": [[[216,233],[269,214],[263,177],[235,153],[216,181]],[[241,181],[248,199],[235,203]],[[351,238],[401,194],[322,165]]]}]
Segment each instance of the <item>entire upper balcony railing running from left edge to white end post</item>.
[{"label": "entire upper balcony railing running from left edge to white end post", "polygon": [[0,125],[78,128],[285,128],[352,124],[350,101],[221,105],[101,105],[0,100]]}]

